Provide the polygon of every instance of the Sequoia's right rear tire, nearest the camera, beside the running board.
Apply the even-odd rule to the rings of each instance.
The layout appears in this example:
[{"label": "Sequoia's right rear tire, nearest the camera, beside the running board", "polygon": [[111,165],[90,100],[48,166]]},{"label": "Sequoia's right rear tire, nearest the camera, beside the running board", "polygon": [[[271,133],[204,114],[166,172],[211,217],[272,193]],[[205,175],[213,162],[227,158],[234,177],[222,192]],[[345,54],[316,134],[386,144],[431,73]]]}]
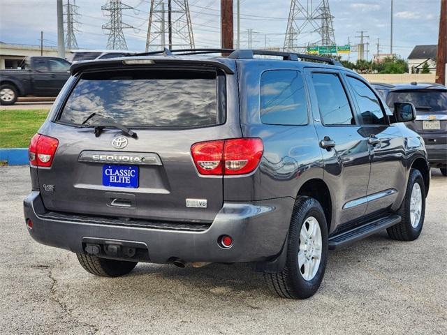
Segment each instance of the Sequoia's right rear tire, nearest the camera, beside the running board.
[{"label": "Sequoia's right rear tire, nearest the camera, beside the running board", "polygon": [[[316,269],[316,272],[314,270],[314,276],[305,279],[306,267],[305,265],[300,265],[302,264],[300,258],[302,260],[306,259],[306,252],[303,252],[302,249],[306,249],[307,242],[300,241],[302,239],[300,236],[304,236],[302,235],[303,225],[305,225],[305,228],[311,227],[309,225],[309,222],[312,222],[311,218],[316,219],[316,223],[314,222],[312,225],[318,225],[319,232],[321,233],[321,254],[318,269]],[[328,260],[328,225],[323,208],[317,200],[301,196],[295,200],[286,243],[287,256],[284,269],[274,274],[264,273],[265,283],[279,297],[288,299],[306,299],[312,297],[321,285]],[[298,253],[302,256],[299,256]],[[317,262],[312,252],[310,259],[311,262]],[[303,271],[305,274],[303,274]]]}]

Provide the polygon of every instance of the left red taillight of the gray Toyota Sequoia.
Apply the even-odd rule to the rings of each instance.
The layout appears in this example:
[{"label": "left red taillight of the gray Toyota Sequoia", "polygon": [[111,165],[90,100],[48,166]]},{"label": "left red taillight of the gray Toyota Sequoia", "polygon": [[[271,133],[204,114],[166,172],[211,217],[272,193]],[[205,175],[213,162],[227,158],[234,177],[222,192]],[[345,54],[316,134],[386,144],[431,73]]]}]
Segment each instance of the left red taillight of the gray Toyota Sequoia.
[{"label": "left red taillight of the gray Toyota Sequoia", "polygon": [[34,166],[50,167],[59,141],[50,136],[36,134],[28,148],[29,163]]}]

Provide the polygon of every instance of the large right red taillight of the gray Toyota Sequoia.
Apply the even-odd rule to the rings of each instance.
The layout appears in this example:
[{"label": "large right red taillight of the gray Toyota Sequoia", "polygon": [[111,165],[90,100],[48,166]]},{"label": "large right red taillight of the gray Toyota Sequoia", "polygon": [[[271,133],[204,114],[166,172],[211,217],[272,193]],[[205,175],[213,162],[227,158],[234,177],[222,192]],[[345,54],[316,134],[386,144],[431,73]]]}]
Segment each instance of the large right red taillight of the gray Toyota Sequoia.
[{"label": "large right red taillight of the gray Toyota Sequoia", "polygon": [[254,171],[263,156],[261,138],[233,138],[198,142],[191,147],[200,174],[247,174]]}]

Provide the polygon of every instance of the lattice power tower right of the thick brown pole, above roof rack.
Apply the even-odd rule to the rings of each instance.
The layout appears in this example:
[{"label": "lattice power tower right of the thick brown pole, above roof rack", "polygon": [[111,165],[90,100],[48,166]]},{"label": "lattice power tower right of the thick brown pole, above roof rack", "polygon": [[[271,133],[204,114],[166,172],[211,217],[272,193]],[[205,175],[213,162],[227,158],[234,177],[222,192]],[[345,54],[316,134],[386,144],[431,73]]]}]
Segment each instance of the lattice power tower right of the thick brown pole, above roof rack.
[{"label": "lattice power tower right of the thick brown pole, above roof rack", "polygon": [[[305,6],[302,4],[305,3]],[[317,4],[317,6],[315,6]],[[310,45],[335,45],[334,17],[330,13],[329,0],[299,1],[291,0],[291,8],[288,13],[286,37],[284,38],[284,50],[304,51],[305,47],[298,46],[297,41],[305,35],[311,35]],[[306,43],[301,43],[305,45]]]}]

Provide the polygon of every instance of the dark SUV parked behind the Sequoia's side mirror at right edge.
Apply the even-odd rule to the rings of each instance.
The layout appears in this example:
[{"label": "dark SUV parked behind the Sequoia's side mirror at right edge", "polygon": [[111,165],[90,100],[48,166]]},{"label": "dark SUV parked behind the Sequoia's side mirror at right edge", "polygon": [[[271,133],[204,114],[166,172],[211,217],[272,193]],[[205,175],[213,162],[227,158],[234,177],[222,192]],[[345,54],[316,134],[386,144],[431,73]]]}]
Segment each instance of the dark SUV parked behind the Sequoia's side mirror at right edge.
[{"label": "dark SUV parked behind the Sequoia's side mirror at right edge", "polygon": [[407,127],[419,133],[427,148],[432,168],[447,177],[447,87],[441,84],[381,84],[372,86],[393,110],[397,102],[408,101],[416,107],[416,120]]}]

